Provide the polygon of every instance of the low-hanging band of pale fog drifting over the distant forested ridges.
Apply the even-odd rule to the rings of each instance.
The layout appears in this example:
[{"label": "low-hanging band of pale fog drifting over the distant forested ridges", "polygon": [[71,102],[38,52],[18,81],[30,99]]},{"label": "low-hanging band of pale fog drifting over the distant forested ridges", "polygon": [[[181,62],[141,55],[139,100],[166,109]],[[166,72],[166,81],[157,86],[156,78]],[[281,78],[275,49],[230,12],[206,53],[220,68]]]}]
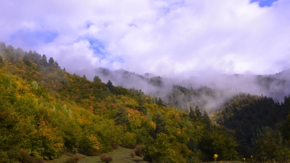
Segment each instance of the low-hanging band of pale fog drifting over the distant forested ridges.
[{"label": "low-hanging band of pale fog drifting over the distant forested ridges", "polygon": [[[174,96],[177,100],[175,107],[179,109],[189,109],[190,106],[196,105],[208,111],[220,109],[226,100],[239,93],[272,97],[279,102],[290,94],[290,70],[269,75],[226,75],[208,72],[198,76],[183,74],[171,78],[149,73],[139,75],[125,70],[111,71],[106,68],[83,69],[75,73],[80,76],[86,75],[91,81],[94,76],[98,76],[105,83],[110,80],[115,86],[141,89],[146,94],[161,97],[167,105],[170,105],[170,99]],[[199,94],[184,94],[176,85],[196,90]]]}]

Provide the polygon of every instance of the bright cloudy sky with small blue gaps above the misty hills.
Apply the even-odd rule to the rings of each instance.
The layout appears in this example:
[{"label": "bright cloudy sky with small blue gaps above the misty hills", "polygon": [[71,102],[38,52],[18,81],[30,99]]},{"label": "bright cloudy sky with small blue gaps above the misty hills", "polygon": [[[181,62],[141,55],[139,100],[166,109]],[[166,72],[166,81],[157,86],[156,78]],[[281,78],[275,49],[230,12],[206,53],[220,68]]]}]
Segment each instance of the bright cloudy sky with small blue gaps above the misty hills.
[{"label": "bright cloudy sky with small blue gaps above the misty hills", "polygon": [[290,0],[1,0],[0,41],[68,72],[290,69]]}]

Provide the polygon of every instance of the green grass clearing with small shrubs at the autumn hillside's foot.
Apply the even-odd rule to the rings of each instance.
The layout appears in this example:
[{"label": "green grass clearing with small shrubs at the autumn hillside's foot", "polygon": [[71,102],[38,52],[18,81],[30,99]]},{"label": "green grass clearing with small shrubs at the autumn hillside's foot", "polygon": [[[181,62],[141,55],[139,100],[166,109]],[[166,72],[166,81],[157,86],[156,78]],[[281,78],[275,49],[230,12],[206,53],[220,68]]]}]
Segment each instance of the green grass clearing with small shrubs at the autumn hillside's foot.
[{"label": "green grass clearing with small shrubs at the autumn hillside's foot", "polygon": [[[134,158],[132,158],[130,156],[130,153],[134,151],[134,149],[119,147],[113,152],[105,153],[104,155],[111,156],[113,158],[112,163],[148,163],[143,161],[143,158],[139,156],[135,156]],[[80,157],[79,163],[101,163],[100,156],[86,156],[82,154],[76,155]],[[62,155],[60,159],[45,161],[45,163],[63,163],[64,161],[66,161],[66,159],[70,157],[71,156]]]}]

